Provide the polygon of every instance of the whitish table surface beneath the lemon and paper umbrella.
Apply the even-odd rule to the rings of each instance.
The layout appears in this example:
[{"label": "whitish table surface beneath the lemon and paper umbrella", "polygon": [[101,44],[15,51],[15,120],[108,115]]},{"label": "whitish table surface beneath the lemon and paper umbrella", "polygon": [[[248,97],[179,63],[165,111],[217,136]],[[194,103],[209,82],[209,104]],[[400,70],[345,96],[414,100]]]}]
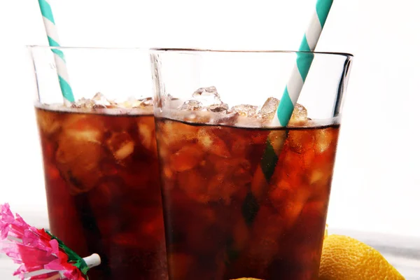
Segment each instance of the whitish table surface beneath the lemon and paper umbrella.
[{"label": "whitish table surface beneath the lemon and paper umbrella", "polygon": [[[329,234],[349,235],[377,248],[406,280],[420,280],[420,238],[398,237],[377,233],[329,229]],[[17,265],[0,254],[0,279],[17,280],[12,276]],[[379,280],[379,279],[378,279]]]}]

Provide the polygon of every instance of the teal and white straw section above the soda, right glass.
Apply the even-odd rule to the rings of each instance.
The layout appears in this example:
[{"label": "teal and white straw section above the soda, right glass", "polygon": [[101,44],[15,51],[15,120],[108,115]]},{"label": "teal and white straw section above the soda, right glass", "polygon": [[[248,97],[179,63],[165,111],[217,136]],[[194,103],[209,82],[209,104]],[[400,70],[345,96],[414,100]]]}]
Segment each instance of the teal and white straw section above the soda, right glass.
[{"label": "teal and white straw section above the soda, right glass", "polygon": [[314,60],[314,54],[310,52],[313,52],[316,48],[328,13],[330,13],[332,1],[333,0],[318,0],[316,3],[314,15],[312,15],[311,22],[303,36],[299,48],[300,52],[297,53],[296,63],[293,67],[286,89],[283,92],[283,96],[281,97],[276,117],[274,117],[272,125],[286,127],[292,116],[293,109],[299,98],[300,92],[302,91],[312,61]]}]

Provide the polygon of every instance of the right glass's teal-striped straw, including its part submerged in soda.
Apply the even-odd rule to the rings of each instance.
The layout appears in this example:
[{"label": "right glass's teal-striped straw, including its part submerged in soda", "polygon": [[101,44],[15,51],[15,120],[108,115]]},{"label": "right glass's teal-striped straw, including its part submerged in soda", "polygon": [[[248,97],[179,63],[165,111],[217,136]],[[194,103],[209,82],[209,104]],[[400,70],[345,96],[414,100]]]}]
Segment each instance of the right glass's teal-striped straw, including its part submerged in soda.
[{"label": "right glass's teal-striped straw, including its part submerged in soda", "polygon": [[[288,125],[297,98],[302,91],[304,81],[307,78],[312,61],[314,60],[314,54],[311,53],[311,51],[314,51],[316,48],[328,13],[330,13],[332,2],[333,0],[318,0],[316,2],[314,15],[311,18],[309,27],[307,27],[307,31],[300,44],[299,51],[301,52],[297,53],[296,63],[288,80],[288,84],[286,85],[286,89],[283,92],[283,96],[281,97],[276,116],[272,121],[272,125],[276,127],[286,127],[286,125]],[[279,160],[279,154],[283,149],[287,134],[287,131],[284,131],[281,135],[278,133],[269,134],[267,147],[265,148],[264,155],[262,155],[262,160],[251,183],[252,193],[258,201],[262,200],[262,197],[264,197],[268,182],[274,174],[274,169]]]}]

